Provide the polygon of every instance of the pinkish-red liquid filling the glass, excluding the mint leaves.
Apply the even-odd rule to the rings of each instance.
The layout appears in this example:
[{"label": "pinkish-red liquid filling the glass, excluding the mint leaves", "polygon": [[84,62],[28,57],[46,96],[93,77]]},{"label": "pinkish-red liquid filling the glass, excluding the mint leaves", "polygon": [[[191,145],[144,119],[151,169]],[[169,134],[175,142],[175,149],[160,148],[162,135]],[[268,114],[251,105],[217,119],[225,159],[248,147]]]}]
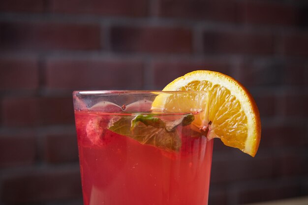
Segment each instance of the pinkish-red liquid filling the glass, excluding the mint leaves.
[{"label": "pinkish-red liquid filling the glass, excluding the mint leaves", "polygon": [[143,145],[108,129],[120,117],[75,111],[84,205],[207,205],[213,140],[180,125],[179,150]]}]

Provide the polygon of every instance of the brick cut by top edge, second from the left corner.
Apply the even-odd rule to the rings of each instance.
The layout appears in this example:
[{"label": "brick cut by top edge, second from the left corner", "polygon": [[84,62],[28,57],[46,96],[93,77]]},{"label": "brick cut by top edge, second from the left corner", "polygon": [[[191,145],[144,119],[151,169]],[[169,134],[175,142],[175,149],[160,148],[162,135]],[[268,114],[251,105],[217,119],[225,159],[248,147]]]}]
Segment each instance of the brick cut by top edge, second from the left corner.
[{"label": "brick cut by top edge, second from the left corner", "polygon": [[56,13],[139,17],[147,15],[148,4],[148,0],[51,0],[50,10]]}]

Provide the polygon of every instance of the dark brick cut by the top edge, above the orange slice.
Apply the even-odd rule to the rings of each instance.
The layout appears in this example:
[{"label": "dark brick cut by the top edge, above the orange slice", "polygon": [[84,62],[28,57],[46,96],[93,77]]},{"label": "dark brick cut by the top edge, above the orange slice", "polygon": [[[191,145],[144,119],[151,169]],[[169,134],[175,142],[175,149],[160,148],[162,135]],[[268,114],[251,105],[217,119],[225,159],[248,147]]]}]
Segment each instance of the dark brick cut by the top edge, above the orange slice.
[{"label": "dark brick cut by the top edge, above the orange slice", "polygon": [[160,0],[159,16],[235,22],[236,4],[227,0]]}]

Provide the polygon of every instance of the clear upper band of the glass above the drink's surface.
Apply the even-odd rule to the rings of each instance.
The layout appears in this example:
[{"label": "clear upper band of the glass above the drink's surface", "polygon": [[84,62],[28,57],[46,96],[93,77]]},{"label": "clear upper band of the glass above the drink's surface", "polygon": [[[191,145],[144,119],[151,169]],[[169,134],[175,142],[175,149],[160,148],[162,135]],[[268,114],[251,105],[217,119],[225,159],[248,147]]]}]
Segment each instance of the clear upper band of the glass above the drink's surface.
[{"label": "clear upper band of the glass above the drink's surface", "polygon": [[[155,112],[161,113],[183,113],[183,112],[199,112],[201,110],[207,110],[207,104],[202,105],[197,103],[191,108],[186,110],[179,107],[173,107],[171,109],[165,110],[160,105],[153,107],[152,103],[155,99],[162,104],[165,103],[167,99],[171,101],[178,97],[185,97],[189,102],[194,100],[201,99],[203,100],[210,99],[211,93],[208,90],[205,91],[194,91],[194,90],[178,90],[178,91],[160,91],[160,90],[76,90],[73,91],[73,100],[74,100],[74,109],[75,110],[91,110],[91,111],[100,111],[100,112],[109,112],[107,109],[111,109],[112,105],[115,107],[126,108],[130,107],[129,112],[140,113],[141,110],[145,110],[149,107],[150,110],[155,110]],[[158,98],[157,98],[158,97]],[[171,97],[171,98],[169,98]],[[107,102],[107,104],[106,104]],[[144,102],[144,105],[141,106],[140,102]],[[134,104],[135,103],[135,104]],[[137,103],[137,104],[136,104]],[[141,103],[142,104],[142,103]],[[181,104],[181,103],[180,103]],[[137,109],[137,105],[140,105],[140,109]],[[109,107],[108,107],[109,106]],[[111,106],[111,107],[110,107]],[[134,107],[135,106],[135,107]],[[185,106],[186,108],[186,106]],[[122,111],[128,112],[128,109]],[[148,110],[147,110],[148,111]],[[112,113],[115,113],[114,111]],[[116,112],[117,113],[117,112]],[[122,112],[121,112],[122,113]]]}]

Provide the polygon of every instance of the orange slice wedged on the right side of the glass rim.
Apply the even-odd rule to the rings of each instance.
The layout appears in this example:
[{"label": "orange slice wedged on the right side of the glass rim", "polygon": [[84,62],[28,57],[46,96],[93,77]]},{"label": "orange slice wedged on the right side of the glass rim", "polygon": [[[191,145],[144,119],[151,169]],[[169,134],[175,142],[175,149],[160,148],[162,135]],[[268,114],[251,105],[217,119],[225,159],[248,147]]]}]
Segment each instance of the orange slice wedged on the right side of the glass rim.
[{"label": "orange slice wedged on the right side of the glass rim", "polygon": [[187,111],[189,107],[207,104],[208,113],[196,117],[193,124],[200,130],[208,129],[209,140],[220,138],[226,146],[255,156],[261,137],[260,115],[252,96],[239,82],[222,73],[198,70],[177,78],[163,89],[175,90],[209,90],[210,99],[199,97],[192,101],[186,97],[157,96],[153,109],[180,107]]}]

